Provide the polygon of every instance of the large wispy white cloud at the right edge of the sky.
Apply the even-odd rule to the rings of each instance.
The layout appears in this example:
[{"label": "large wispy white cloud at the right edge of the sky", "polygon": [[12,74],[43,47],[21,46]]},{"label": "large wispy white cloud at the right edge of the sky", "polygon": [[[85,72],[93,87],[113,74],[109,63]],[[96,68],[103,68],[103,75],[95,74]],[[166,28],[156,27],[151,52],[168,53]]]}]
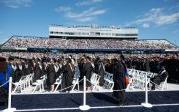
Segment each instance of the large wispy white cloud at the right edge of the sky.
[{"label": "large wispy white cloud at the right edge of the sky", "polygon": [[158,26],[173,24],[179,21],[179,12],[167,13],[162,8],[153,8],[144,16],[141,16],[137,20],[133,21],[132,24],[139,24],[143,27],[149,27],[151,24]]}]

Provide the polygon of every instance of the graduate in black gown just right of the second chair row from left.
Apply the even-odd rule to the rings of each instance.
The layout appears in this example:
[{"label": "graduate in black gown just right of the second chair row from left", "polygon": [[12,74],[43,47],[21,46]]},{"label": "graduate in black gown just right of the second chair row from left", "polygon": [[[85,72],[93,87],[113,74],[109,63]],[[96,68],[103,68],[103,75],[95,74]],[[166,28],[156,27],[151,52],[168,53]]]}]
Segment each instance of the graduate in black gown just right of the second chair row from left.
[{"label": "graduate in black gown just right of the second chair row from left", "polygon": [[56,81],[56,73],[54,68],[54,60],[51,59],[51,62],[48,64],[47,68],[47,86],[50,87],[50,90],[54,91],[54,83]]}]

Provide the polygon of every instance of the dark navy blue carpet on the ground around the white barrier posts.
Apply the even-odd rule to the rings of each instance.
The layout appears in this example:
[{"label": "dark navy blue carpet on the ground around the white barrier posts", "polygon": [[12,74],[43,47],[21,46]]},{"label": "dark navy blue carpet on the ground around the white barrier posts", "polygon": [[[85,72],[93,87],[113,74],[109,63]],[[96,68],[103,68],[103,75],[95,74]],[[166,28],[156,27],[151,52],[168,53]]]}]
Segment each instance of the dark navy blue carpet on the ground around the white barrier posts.
[{"label": "dark navy blue carpet on the ground around the white barrier posts", "polygon": [[[144,92],[127,92],[124,105],[140,105],[145,100]],[[39,108],[71,108],[82,105],[83,94],[45,94],[45,95],[15,95],[12,97],[12,107],[17,109],[39,109]],[[179,91],[151,91],[149,92],[151,104],[179,104]],[[89,93],[87,104],[96,106],[117,106],[112,93]],[[72,110],[71,110],[72,111]],[[79,110],[73,110],[79,111]],[[91,109],[89,112],[179,112],[179,106],[152,107],[128,107]],[[47,112],[47,111],[45,111]],[[50,112],[50,111],[49,111]],[[68,112],[68,111],[66,111]]]}]

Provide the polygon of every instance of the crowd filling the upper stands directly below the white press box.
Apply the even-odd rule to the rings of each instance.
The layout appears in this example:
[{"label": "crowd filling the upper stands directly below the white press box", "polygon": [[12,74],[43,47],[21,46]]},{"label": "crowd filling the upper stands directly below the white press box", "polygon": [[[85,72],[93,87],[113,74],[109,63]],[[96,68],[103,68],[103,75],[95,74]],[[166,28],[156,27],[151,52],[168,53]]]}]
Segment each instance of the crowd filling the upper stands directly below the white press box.
[{"label": "crowd filling the upper stands directly below the white press box", "polygon": [[57,39],[12,37],[7,48],[69,48],[69,49],[177,49],[167,40],[117,40],[117,39]]}]

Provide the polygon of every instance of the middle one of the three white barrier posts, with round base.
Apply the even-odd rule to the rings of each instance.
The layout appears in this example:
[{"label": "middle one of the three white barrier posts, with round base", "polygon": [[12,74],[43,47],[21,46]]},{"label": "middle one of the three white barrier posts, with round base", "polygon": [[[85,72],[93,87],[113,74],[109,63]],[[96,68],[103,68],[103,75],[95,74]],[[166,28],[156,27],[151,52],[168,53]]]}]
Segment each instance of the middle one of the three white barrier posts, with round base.
[{"label": "middle one of the three white barrier posts, with round base", "polygon": [[79,109],[83,111],[90,109],[90,106],[86,105],[86,76],[84,76],[83,80],[83,105],[81,105]]}]

